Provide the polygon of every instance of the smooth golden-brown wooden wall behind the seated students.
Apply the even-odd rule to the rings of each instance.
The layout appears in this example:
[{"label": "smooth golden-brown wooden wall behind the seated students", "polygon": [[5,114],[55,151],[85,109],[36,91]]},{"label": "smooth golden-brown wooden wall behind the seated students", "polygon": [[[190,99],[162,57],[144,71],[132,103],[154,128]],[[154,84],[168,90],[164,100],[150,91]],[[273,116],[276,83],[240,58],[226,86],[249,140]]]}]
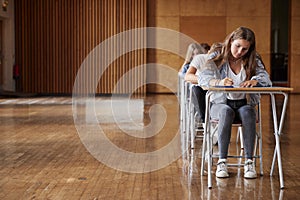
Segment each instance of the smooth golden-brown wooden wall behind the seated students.
[{"label": "smooth golden-brown wooden wall behind the seated students", "polygon": [[[149,1],[148,5],[148,16],[151,17],[148,19],[149,25],[173,28],[199,43],[206,42],[211,45],[223,41],[238,26],[252,28],[257,36],[257,50],[262,54],[267,69],[270,69],[271,0],[153,0]],[[179,19],[179,26],[170,18]],[[183,51],[187,49],[184,46],[180,48]],[[170,62],[167,54],[156,52],[149,55],[149,60],[162,64],[168,63],[170,67],[178,70],[184,58],[173,59]],[[157,74],[157,76],[161,75]],[[173,77],[171,82],[176,83],[177,77]],[[169,91],[151,87],[149,92]]]}]

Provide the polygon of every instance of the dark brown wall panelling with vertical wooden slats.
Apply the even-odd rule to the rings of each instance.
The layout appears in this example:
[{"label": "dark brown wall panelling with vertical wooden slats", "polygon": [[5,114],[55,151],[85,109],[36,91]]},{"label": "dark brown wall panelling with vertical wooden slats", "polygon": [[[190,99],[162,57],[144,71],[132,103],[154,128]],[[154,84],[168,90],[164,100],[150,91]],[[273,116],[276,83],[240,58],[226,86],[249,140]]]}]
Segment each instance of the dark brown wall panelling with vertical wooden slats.
[{"label": "dark brown wall panelling with vertical wooden slats", "polygon": [[[146,0],[31,0],[15,1],[16,63],[21,66],[17,90],[41,94],[70,94],[78,69],[101,42],[133,28],[146,26]],[[145,33],[129,36],[127,42],[146,42]],[[130,47],[130,44],[127,44]],[[106,48],[115,49],[114,42]],[[114,51],[113,51],[114,52]],[[101,59],[112,59],[116,53]],[[97,59],[90,61],[96,70]],[[96,93],[114,93],[125,72],[146,63],[146,50],[116,58],[99,81]],[[91,79],[97,79],[95,71]],[[128,93],[145,80],[145,71],[136,72],[118,93]],[[85,87],[93,88],[88,81]],[[136,92],[145,93],[146,87]]]}]

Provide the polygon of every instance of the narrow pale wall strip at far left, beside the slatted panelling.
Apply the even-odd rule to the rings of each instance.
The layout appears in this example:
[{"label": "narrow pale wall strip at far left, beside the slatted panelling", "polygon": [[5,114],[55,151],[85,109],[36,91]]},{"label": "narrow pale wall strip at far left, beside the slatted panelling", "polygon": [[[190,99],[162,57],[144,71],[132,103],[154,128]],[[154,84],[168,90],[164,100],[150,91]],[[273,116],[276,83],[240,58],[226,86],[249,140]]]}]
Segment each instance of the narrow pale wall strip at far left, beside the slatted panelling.
[{"label": "narrow pale wall strip at far left, beside the slatted panelling", "polygon": [[5,91],[15,91],[13,65],[15,63],[14,0],[9,0],[7,11],[3,11],[0,0],[0,20],[2,21],[3,85]]}]

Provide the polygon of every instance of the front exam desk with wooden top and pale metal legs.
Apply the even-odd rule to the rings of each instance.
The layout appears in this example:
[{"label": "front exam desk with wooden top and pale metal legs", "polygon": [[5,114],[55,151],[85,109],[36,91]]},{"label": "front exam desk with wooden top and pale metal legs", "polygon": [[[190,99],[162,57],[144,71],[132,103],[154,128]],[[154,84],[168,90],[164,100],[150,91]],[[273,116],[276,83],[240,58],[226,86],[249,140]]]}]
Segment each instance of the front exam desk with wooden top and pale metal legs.
[{"label": "front exam desk with wooden top and pale metal legs", "polygon": [[[205,113],[205,135],[206,138],[209,138],[208,133],[208,124],[209,124],[209,112],[210,112],[210,97],[212,94],[216,92],[224,92],[224,93],[248,93],[248,94],[268,94],[271,97],[271,104],[272,104],[272,113],[273,113],[273,126],[274,126],[274,136],[275,136],[275,149],[274,149],[274,156],[272,161],[272,167],[270,175],[273,175],[274,171],[274,165],[277,158],[278,163],[278,171],[279,171],[279,179],[280,179],[280,188],[284,188],[284,180],[283,180],[283,171],[282,171],[282,163],[281,163],[281,153],[280,153],[280,135],[283,127],[284,122],[284,116],[286,112],[286,106],[288,101],[288,93],[293,90],[293,88],[287,88],[287,87],[251,87],[251,88],[237,88],[237,87],[203,87],[203,89],[208,90],[206,94],[206,113]],[[278,118],[276,113],[276,101],[275,101],[275,95],[280,94],[284,96],[284,102],[282,105],[282,112],[281,116],[279,118],[279,124],[278,124]],[[211,143],[209,140],[207,140],[207,149],[211,148]],[[208,188],[212,187],[212,181],[211,181],[211,159],[208,159]]]}]

